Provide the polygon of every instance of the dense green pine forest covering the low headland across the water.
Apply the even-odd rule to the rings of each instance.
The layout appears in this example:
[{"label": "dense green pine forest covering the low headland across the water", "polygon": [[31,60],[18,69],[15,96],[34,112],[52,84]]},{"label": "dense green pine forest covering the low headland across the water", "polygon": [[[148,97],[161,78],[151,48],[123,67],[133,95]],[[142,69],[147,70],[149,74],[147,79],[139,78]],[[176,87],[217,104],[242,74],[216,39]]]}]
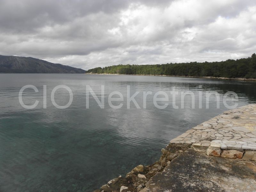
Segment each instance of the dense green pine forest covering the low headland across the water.
[{"label": "dense green pine forest covering the low headland across the water", "polygon": [[167,63],[162,65],[114,65],[93,68],[88,73],[127,75],[166,75],[227,78],[256,78],[256,55],[220,62]]}]

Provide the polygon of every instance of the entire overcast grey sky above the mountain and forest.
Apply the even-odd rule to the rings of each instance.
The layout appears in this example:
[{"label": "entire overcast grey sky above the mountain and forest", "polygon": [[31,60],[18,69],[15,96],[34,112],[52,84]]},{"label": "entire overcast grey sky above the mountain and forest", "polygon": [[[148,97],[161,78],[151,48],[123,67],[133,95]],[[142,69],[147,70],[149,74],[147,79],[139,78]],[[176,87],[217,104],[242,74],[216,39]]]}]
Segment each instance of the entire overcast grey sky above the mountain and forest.
[{"label": "entire overcast grey sky above the mountain and forest", "polygon": [[89,69],[256,52],[255,0],[0,0],[0,54]]}]

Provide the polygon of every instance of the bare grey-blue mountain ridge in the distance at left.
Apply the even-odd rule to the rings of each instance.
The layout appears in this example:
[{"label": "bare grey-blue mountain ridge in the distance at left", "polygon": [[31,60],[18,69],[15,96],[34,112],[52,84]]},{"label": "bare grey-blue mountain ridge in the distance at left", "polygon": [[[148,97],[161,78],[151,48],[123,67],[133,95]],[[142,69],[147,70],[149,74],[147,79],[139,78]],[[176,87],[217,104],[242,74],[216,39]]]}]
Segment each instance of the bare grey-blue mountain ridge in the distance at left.
[{"label": "bare grey-blue mountain ridge in the distance at left", "polygon": [[32,57],[0,55],[0,73],[86,73],[86,71]]}]

